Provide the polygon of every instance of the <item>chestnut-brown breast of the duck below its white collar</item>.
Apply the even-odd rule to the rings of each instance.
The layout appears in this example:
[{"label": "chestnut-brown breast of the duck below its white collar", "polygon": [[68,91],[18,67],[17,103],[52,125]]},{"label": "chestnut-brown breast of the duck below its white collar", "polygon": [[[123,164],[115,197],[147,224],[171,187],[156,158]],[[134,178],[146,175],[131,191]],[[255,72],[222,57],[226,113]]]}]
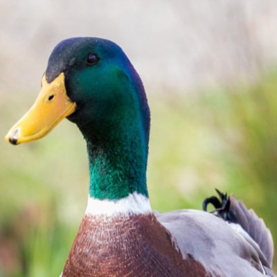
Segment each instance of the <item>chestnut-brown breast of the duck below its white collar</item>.
[{"label": "chestnut-brown breast of the duck below its white collar", "polygon": [[85,215],[63,277],[207,277],[193,256],[181,256],[152,214]]}]

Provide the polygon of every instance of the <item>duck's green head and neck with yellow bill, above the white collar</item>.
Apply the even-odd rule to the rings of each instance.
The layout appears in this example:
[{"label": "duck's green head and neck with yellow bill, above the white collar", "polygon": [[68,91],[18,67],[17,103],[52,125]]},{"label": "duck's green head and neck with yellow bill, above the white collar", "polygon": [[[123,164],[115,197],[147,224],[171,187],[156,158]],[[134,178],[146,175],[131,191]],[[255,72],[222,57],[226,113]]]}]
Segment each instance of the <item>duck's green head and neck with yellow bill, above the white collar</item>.
[{"label": "duck's green head and neck with yellow bill, above the white collar", "polygon": [[87,141],[92,197],[148,196],[150,111],[139,75],[114,42],[76,37],[57,44],[32,111],[6,139],[13,144],[40,139],[65,117]]}]

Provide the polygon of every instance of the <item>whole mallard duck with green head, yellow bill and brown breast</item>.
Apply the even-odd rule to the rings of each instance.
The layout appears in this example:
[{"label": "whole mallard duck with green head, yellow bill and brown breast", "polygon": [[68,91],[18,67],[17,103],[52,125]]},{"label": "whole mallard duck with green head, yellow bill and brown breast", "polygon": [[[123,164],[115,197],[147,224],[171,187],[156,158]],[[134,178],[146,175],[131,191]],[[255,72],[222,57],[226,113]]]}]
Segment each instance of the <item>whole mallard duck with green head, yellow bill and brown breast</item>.
[{"label": "whole mallard duck with green head, yellow bill and brown breast", "polygon": [[[208,197],[204,211],[152,210],[150,108],[139,74],[116,43],[73,37],[57,44],[37,100],[6,141],[42,139],[64,118],[87,145],[89,197],[61,276],[274,276],[271,233],[235,197]],[[211,204],[213,213],[206,211]]]}]

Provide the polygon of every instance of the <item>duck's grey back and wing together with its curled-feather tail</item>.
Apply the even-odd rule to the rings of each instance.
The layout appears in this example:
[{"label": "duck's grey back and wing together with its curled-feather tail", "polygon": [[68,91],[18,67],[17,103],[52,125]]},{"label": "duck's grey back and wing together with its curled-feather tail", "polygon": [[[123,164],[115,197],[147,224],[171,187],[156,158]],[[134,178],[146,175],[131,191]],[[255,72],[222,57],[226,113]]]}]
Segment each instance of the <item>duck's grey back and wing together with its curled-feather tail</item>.
[{"label": "duck's grey back and wing together with its curled-feather tail", "polygon": [[235,197],[220,197],[222,207],[214,213],[181,210],[156,216],[184,258],[201,262],[212,276],[274,277],[274,245],[263,220]]}]

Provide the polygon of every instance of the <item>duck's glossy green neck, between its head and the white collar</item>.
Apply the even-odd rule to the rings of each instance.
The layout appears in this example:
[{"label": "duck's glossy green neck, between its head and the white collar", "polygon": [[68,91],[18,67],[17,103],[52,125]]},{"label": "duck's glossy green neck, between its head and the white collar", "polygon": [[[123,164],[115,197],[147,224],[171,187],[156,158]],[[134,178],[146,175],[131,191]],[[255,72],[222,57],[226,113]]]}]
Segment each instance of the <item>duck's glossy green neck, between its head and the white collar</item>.
[{"label": "duck's glossy green neck, between its head and the white collar", "polygon": [[115,118],[83,128],[89,156],[89,197],[119,200],[134,193],[148,198],[146,167],[148,138],[139,118]]}]

